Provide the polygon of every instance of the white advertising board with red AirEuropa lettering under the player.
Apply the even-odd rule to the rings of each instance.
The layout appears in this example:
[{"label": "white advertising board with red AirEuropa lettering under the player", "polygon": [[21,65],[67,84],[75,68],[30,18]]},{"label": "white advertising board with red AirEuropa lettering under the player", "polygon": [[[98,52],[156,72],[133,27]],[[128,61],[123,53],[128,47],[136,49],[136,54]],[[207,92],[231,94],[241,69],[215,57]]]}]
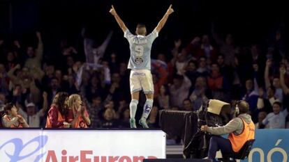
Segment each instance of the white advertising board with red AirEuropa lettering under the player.
[{"label": "white advertising board with red AirEuropa lettering under the player", "polygon": [[165,158],[153,129],[0,129],[1,162],[141,162]]}]

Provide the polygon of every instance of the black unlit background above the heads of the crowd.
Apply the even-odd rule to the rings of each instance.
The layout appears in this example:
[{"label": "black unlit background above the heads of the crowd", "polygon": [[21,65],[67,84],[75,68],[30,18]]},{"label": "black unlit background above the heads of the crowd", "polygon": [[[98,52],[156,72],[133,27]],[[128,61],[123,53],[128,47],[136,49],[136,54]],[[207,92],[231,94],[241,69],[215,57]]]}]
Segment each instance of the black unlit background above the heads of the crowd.
[{"label": "black unlit background above the heads of the crowd", "polygon": [[[172,3],[175,9],[156,40],[155,51],[165,51],[173,40],[191,41],[195,36],[209,33],[214,22],[221,36],[232,33],[235,44],[265,44],[274,38],[276,30],[288,38],[288,10],[285,1],[208,1],[208,0],[1,0],[0,36],[22,39],[29,44],[31,33],[43,34],[46,54],[67,38],[74,46],[82,47],[82,28],[86,35],[101,42],[110,30],[114,31],[110,51],[127,53],[127,42],[114,18],[108,13],[111,4],[133,33],[138,23],[150,32]],[[49,48],[47,48],[49,47]]]}]

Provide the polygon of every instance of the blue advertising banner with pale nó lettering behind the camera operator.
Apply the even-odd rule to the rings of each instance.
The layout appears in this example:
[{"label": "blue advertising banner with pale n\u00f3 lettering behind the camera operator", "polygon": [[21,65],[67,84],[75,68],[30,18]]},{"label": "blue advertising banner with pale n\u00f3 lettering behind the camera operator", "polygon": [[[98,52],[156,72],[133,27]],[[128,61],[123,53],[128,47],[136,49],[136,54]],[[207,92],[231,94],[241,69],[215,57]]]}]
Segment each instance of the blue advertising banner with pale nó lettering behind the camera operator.
[{"label": "blue advertising banner with pale n\u00f3 lettering behind the camera operator", "polygon": [[289,129],[257,129],[248,162],[287,162]]}]

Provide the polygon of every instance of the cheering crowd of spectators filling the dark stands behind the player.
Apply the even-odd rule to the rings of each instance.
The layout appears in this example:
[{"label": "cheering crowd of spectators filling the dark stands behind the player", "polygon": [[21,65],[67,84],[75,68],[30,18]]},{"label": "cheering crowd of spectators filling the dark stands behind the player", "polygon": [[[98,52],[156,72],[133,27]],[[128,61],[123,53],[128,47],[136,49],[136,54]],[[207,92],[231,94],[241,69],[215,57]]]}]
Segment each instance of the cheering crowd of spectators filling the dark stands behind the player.
[{"label": "cheering crowd of spectators filling the dark stands behind the player", "polygon": [[[108,46],[113,36],[110,32],[98,45],[85,34],[83,46],[61,40],[54,58],[45,54],[48,47],[38,31],[31,35],[35,45],[0,38],[1,127],[128,128],[130,72],[117,51],[107,50],[113,48]],[[172,47],[152,54],[155,92],[149,127],[159,127],[161,109],[197,111],[208,99],[244,99],[259,129],[289,128],[289,62],[280,31],[262,45],[235,44],[233,35],[221,38],[214,26],[190,42],[170,41]],[[68,97],[61,110],[66,122],[47,123],[54,114],[50,109],[59,106],[59,92]],[[145,101],[144,95],[140,98]],[[13,105],[8,103],[17,108],[17,125],[9,124]]]}]

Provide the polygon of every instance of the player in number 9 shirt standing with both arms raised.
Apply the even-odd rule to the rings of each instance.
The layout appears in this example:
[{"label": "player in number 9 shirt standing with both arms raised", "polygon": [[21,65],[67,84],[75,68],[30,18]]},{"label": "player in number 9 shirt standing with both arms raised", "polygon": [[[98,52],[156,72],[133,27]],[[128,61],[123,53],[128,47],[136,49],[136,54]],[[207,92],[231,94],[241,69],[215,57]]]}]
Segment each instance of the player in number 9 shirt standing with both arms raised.
[{"label": "player in number 9 shirt standing with both arms raised", "polygon": [[173,13],[172,5],[168,8],[167,12],[163,16],[158,26],[147,35],[147,29],[144,24],[138,24],[136,28],[136,35],[133,35],[124,22],[121,20],[117,12],[114,10],[114,7],[110,9],[110,13],[117,20],[122,31],[124,31],[124,37],[129,42],[129,47],[131,51],[131,57],[128,62],[128,69],[131,69],[130,76],[130,87],[131,87],[131,104],[130,108],[130,124],[131,128],[136,128],[135,125],[135,112],[138,106],[138,99],[140,95],[140,90],[144,91],[144,94],[147,97],[147,101],[144,104],[144,110],[142,113],[142,118],[140,118],[140,125],[144,128],[147,126],[147,117],[151,111],[154,99],[154,85],[151,77],[151,44],[158,37],[158,32],[161,31],[165,22],[168,19],[168,16]]}]

